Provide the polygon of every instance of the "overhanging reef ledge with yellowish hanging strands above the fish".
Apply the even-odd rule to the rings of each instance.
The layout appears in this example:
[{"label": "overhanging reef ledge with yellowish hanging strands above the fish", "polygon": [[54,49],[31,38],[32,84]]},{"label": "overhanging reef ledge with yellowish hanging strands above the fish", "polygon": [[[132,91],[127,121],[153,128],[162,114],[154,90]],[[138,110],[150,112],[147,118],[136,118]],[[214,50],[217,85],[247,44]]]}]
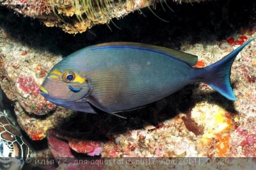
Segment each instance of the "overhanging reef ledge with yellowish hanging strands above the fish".
[{"label": "overhanging reef ledge with yellowish hanging strands above the fish", "polygon": [[[204,0],[200,0],[204,1]],[[192,3],[198,0],[175,0],[176,3]],[[3,0],[1,4],[25,16],[38,18],[45,26],[58,26],[63,31],[83,33],[97,24],[108,24],[111,19],[122,19],[135,10],[140,10],[166,0],[72,0],[72,1],[27,1]]]}]

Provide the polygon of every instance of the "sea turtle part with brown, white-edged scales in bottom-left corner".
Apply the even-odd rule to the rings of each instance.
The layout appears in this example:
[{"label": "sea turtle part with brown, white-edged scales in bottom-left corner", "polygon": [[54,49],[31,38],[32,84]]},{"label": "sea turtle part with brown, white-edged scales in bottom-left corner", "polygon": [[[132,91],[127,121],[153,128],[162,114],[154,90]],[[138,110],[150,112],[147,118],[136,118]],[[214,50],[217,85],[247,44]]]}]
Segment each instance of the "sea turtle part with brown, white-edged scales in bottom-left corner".
[{"label": "sea turtle part with brown, white-edged scales in bottom-left corner", "polygon": [[0,169],[22,169],[31,153],[30,146],[7,113],[0,112]]}]

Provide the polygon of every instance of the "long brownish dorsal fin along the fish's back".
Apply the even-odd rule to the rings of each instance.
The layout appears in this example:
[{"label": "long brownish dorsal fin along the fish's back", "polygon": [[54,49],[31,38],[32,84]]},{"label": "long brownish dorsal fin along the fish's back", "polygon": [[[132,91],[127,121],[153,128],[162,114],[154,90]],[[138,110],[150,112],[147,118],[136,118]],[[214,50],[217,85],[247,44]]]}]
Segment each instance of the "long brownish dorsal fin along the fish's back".
[{"label": "long brownish dorsal fin along the fish's back", "polygon": [[159,52],[164,52],[173,58],[180,59],[190,66],[195,66],[197,63],[197,56],[188,54],[186,52],[181,52],[179,50],[172,50],[165,47],[160,47],[156,45],[148,45],[145,43],[134,43],[134,42],[111,42],[111,43],[100,43],[98,45],[93,45],[93,47],[113,47],[113,46],[120,46],[120,47],[138,47],[140,49],[150,49],[156,50]]}]

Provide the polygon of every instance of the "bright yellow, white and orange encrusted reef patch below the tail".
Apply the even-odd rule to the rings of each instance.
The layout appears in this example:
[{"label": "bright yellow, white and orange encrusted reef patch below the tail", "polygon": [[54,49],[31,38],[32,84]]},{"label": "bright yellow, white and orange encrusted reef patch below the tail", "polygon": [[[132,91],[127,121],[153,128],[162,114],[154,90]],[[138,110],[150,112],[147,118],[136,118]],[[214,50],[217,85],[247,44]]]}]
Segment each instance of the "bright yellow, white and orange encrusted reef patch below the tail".
[{"label": "bright yellow, white and orange encrusted reef patch below the tail", "polygon": [[[211,109],[209,109],[211,108]],[[232,119],[227,118],[225,109],[218,105],[201,103],[197,104],[191,112],[192,118],[198,125],[204,126],[204,135],[198,141],[198,151],[214,157],[227,157]],[[234,118],[238,121],[238,118]],[[203,149],[202,149],[203,148]],[[212,148],[216,150],[212,151]],[[211,151],[211,153],[209,153]]]}]

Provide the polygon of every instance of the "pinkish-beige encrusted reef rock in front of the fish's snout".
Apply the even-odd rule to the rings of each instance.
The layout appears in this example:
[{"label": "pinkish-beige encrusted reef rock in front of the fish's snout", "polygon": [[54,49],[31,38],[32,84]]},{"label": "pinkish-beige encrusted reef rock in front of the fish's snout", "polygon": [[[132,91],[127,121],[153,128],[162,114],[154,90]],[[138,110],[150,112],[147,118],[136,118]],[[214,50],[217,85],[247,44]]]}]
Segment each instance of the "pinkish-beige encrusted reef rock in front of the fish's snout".
[{"label": "pinkish-beige encrusted reef rock in front of the fish's snout", "polygon": [[[15,112],[17,112],[20,126],[29,134],[31,139],[43,139],[48,128],[54,127],[61,120],[60,118],[65,118],[72,112],[59,109],[51,116],[40,121],[34,117],[56,110],[56,105],[51,104],[39,95],[38,87],[44,80],[46,70],[50,69],[53,66],[52,63],[61,58],[60,56],[52,57],[51,54],[44,55],[44,53],[37,51],[37,54],[41,53],[46,58],[41,58],[40,62],[33,63],[37,56],[35,56],[35,53],[31,54],[28,47],[8,43],[9,40],[7,39],[1,39],[0,41],[5,44],[0,47],[1,88],[10,100],[15,101]],[[13,45],[17,48],[14,49]],[[10,49],[15,51],[12,56],[8,55]],[[27,113],[34,116],[28,116]]]}]

